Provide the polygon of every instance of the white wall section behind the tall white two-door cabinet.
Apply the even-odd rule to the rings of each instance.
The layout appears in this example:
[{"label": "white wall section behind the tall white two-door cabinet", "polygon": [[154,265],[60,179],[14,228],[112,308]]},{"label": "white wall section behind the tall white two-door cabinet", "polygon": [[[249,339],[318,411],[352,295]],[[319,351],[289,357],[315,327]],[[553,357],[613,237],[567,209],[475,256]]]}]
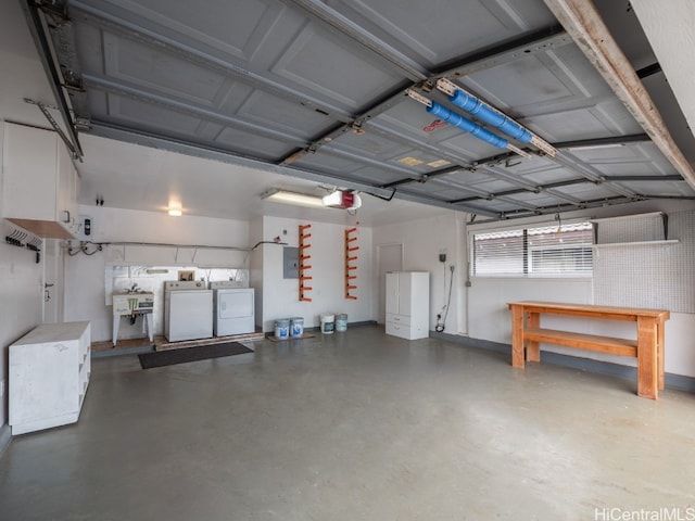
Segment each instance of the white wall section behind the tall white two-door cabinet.
[{"label": "white wall section behind the tall white two-door cabinet", "polygon": [[[446,305],[450,266],[454,266],[452,298],[445,332],[463,334],[466,332],[465,301],[463,293],[463,268],[466,266],[466,252],[463,241],[465,214],[451,212],[439,217],[412,220],[375,227],[372,301],[378,302],[379,280],[376,258],[380,244],[403,244],[403,270],[428,271],[430,274],[430,330],[437,325],[437,314]],[[446,252],[445,265],[439,262],[440,252]],[[446,277],[446,279],[444,279]],[[377,310],[378,312],[378,310]]]}]

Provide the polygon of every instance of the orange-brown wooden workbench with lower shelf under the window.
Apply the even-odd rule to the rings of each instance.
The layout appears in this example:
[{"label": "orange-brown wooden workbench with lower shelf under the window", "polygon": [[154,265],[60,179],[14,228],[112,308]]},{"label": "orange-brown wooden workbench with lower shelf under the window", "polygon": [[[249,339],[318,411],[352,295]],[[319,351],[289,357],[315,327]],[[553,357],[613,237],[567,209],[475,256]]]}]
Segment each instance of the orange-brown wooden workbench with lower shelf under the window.
[{"label": "orange-brown wooden workbench with lower shelf under the window", "polygon": [[[664,389],[664,327],[670,318],[668,310],[529,301],[507,305],[511,312],[514,367],[523,369],[525,360],[541,361],[541,343],[564,345],[636,357],[637,395],[656,399]],[[632,321],[636,323],[636,340],[544,329],[541,315]]]}]

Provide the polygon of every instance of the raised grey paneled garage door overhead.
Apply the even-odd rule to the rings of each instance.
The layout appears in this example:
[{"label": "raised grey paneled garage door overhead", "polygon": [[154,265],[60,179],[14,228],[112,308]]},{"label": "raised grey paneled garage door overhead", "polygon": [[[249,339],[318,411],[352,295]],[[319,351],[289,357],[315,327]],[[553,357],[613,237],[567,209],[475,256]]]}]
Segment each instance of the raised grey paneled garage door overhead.
[{"label": "raised grey paneled garage door overhead", "polygon": [[[54,42],[81,132],[117,129],[493,218],[695,196],[543,0],[74,0],[64,20],[24,3],[50,22],[35,31]],[[617,31],[631,16],[604,13]],[[646,39],[617,40],[642,64],[653,56]],[[441,78],[557,153],[454,106]],[[666,82],[649,84],[670,99]],[[462,118],[478,137],[453,125]]]}]

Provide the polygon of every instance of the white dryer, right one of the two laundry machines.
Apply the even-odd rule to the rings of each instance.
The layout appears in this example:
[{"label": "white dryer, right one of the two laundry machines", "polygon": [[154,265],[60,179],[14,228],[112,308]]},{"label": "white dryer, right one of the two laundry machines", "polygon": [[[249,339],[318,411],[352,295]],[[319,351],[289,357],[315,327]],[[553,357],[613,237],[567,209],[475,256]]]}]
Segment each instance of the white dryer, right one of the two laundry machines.
[{"label": "white dryer, right one of the two laundry machines", "polygon": [[239,288],[236,281],[211,282],[215,336],[255,332],[254,290]]}]

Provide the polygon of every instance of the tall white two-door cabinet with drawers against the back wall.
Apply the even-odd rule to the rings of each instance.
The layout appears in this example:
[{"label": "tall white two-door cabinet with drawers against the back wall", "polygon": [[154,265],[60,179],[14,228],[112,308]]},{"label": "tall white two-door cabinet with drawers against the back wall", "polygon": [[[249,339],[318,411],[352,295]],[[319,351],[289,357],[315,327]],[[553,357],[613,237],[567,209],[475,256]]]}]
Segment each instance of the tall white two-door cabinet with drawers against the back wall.
[{"label": "tall white two-door cabinet with drawers against the back wall", "polygon": [[430,334],[430,274],[387,274],[387,334],[426,339]]}]

